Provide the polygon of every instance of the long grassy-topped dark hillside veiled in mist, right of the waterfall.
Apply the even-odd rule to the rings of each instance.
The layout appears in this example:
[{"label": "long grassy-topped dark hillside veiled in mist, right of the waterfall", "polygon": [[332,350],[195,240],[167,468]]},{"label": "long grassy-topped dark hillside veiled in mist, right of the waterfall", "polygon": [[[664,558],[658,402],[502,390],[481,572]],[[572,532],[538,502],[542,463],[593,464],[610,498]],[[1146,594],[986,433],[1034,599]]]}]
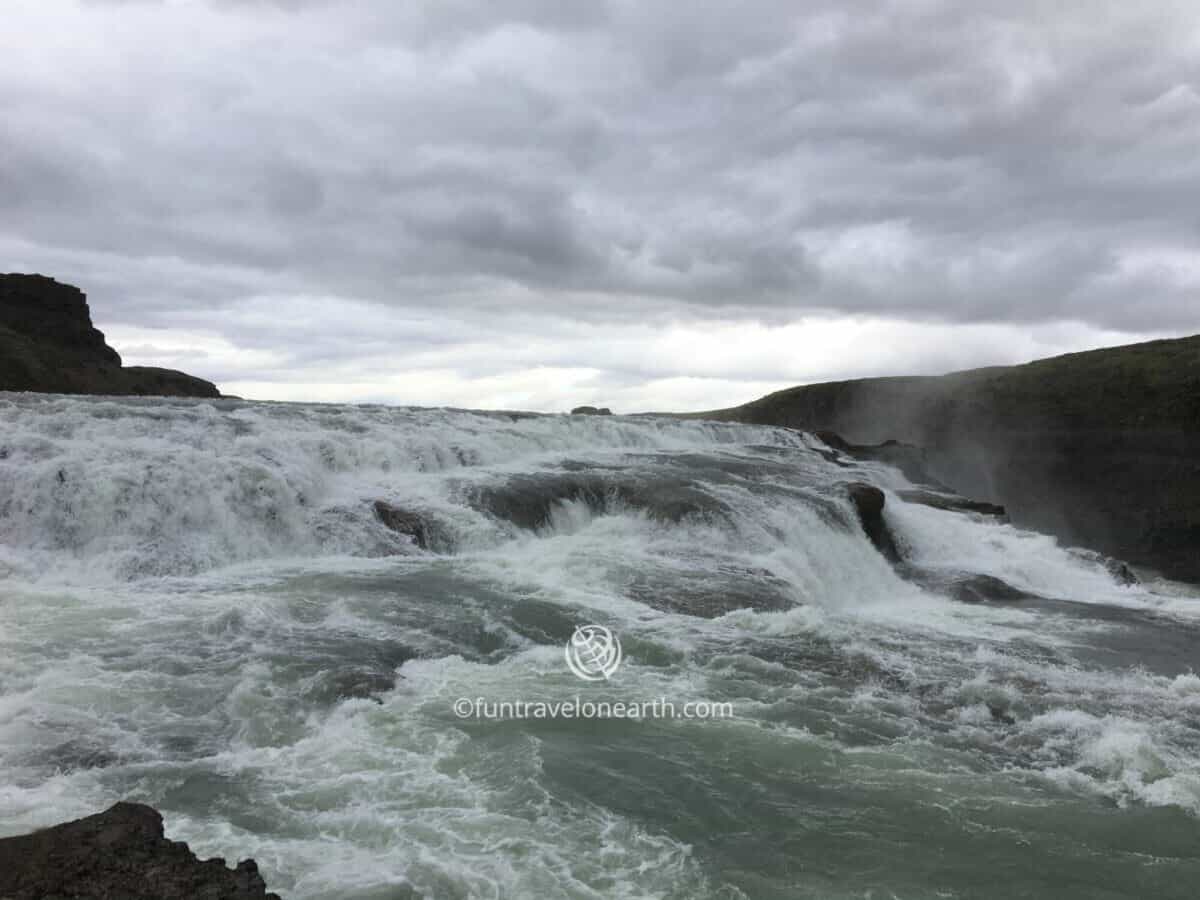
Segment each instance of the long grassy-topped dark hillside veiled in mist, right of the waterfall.
[{"label": "long grassy-topped dark hillside veiled in mist, right of the waterfall", "polygon": [[698,415],[913,444],[934,479],[1018,526],[1200,582],[1200,336],[812,384]]}]

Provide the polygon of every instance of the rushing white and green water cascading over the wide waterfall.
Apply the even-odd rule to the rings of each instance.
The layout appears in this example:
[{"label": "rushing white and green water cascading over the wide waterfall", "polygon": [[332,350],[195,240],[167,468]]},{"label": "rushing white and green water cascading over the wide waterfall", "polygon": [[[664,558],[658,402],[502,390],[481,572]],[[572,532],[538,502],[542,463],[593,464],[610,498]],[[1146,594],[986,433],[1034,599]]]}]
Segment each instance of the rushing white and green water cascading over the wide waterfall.
[{"label": "rushing white and green water cascading over the wide waterfall", "polygon": [[[828,456],[709,422],[0,395],[0,834],[140,799],[286,898],[1196,896],[1195,593]],[[888,492],[913,570],[1043,599],[902,578],[847,480]],[[564,662],[589,623],[623,643],[606,683]]]}]

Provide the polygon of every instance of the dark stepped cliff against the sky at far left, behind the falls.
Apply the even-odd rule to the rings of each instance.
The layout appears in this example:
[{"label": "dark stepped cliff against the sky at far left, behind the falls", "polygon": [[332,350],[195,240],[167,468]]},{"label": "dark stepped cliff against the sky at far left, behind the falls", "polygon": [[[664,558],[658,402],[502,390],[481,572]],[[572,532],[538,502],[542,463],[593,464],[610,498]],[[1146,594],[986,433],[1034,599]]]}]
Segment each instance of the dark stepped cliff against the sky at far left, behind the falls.
[{"label": "dark stepped cliff against the sky at far left, behind the falls", "polygon": [[221,396],[182,372],[122,366],[92,326],[83,292],[42,275],[0,275],[0,390]]}]

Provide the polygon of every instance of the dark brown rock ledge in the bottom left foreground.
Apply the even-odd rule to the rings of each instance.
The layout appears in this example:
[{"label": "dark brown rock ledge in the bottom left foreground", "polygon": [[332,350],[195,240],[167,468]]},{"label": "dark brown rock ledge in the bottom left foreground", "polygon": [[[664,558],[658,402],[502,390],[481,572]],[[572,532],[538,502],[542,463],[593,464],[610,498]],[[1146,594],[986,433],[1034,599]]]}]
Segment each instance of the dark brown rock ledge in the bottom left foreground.
[{"label": "dark brown rock ledge in the bottom left foreground", "polygon": [[140,803],[0,840],[0,900],[280,900],[253,859],[235,869],[163,836]]}]

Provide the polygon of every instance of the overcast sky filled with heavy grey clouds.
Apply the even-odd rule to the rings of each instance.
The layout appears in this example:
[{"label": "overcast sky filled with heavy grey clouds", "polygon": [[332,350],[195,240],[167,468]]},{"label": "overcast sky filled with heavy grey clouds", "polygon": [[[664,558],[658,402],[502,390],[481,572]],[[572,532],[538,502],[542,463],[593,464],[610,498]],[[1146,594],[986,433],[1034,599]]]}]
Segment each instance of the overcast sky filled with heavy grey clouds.
[{"label": "overcast sky filled with heavy grey clouds", "polygon": [[703,409],[1200,331],[1200,4],[4,0],[0,271],[256,398]]}]

